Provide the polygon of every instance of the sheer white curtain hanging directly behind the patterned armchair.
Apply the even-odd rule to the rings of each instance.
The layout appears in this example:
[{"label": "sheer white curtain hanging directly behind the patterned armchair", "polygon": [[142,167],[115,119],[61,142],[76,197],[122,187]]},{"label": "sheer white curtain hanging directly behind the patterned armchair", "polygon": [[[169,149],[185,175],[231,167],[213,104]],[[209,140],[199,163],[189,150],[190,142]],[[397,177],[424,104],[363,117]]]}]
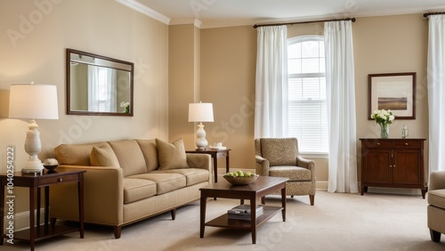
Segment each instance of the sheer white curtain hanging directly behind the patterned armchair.
[{"label": "sheer white curtain hanging directly behind the patterned armchair", "polygon": [[287,136],[287,27],[257,28],[255,138]]}]

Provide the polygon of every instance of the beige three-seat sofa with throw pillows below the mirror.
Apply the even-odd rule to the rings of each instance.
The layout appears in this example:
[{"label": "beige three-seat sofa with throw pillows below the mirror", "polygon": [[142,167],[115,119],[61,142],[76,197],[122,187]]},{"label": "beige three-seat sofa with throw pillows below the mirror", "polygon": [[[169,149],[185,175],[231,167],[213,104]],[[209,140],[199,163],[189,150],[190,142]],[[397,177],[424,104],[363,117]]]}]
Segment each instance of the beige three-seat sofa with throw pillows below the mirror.
[{"label": "beige three-seat sofa with throw pillows below the mirror", "polygon": [[[121,228],[196,201],[199,188],[212,182],[211,158],[186,154],[182,139],[173,143],[127,140],[62,144],[54,149],[60,167],[85,169],[85,223]],[[57,170],[57,169],[56,169]],[[50,217],[78,221],[77,185],[53,186]]]}]

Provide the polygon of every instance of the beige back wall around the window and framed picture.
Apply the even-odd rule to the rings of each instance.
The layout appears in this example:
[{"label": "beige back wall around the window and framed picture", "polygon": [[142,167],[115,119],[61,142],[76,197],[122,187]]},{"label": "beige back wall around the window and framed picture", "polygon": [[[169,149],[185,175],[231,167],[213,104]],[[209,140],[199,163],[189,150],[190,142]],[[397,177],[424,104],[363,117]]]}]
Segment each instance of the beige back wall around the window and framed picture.
[{"label": "beige back wall around the window and framed picture", "polygon": [[[368,120],[368,74],[417,72],[417,118],[395,120],[391,137],[427,138],[426,96],[427,21],[422,14],[357,18],[352,24],[357,101],[357,158],[360,169],[362,137],[377,137],[378,126]],[[322,23],[288,27],[288,36],[322,35]],[[201,30],[200,95],[214,103],[214,123],[206,123],[207,141],[232,149],[231,166],[255,168],[254,116],[256,30],[251,26]],[[170,124],[170,130],[175,125]],[[427,144],[427,142],[426,142]],[[425,149],[427,157],[428,150]],[[317,178],[327,186],[328,160],[313,158]],[[221,160],[220,160],[221,161]],[[426,159],[425,159],[425,163]],[[426,173],[426,170],[425,170]],[[360,179],[360,178],[359,178]]]}]

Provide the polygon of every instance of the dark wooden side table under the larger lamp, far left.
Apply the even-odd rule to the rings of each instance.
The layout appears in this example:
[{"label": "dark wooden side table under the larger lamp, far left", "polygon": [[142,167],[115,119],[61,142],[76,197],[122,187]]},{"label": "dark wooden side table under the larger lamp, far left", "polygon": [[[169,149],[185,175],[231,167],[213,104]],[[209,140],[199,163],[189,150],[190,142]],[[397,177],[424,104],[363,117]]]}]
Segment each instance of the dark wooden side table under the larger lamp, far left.
[{"label": "dark wooden side table under the larger lamp, far left", "polygon": [[[84,238],[84,173],[85,170],[72,170],[65,168],[55,169],[55,173],[48,174],[44,172],[42,175],[29,175],[21,174],[17,172],[13,174],[13,187],[27,187],[29,188],[29,229],[23,231],[15,231],[13,233],[14,240],[29,241],[31,250],[34,250],[36,241],[42,239],[49,239],[54,236],[66,234],[73,231],[80,232],[80,238]],[[10,179],[11,181],[11,179]],[[4,208],[4,187],[8,186],[7,174],[0,174],[0,245],[4,244],[4,212],[7,209]],[[78,210],[79,210],[79,226],[62,226],[49,223],[49,187],[66,182],[77,182],[77,198],[78,198]],[[40,190],[44,188],[44,225],[40,225]],[[35,191],[36,199],[35,201]],[[6,199],[11,199],[6,196]],[[17,198],[12,198],[16,200]],[[37,206],[35,206],[35,202]],[[37,209],[37,210],[36,210]],[[34,212],[36,212],[36,221]]]}]

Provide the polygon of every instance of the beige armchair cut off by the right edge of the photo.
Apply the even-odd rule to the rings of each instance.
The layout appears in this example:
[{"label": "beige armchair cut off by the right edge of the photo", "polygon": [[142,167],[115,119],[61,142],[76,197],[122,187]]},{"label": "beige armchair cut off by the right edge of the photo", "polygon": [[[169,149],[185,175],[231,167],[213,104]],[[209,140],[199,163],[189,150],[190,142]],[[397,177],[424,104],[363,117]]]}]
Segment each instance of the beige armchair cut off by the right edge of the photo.
[{"label": "beige armchair cut off by the right edge of the photo", "polygon": [[441,234],[445,234],[445,171],[430,174],[428,188],[427,218],[431,240],[441,241]]}]

